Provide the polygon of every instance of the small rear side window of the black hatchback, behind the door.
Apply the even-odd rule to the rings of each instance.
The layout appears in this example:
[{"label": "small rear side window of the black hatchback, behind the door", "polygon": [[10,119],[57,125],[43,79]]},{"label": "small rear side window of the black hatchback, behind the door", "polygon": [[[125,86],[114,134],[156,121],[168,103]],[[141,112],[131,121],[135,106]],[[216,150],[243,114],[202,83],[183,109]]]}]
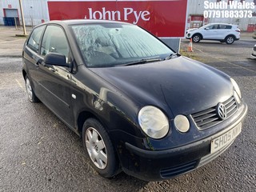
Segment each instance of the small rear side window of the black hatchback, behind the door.
[{"label": "small rear side window of the black hatchback, behind the door", "polygon": [[30,47],[31,50],[34,50],[37,53],[39,50],[40,38],[42,36],[42,32],[44,29],[45,29],[45,26],[39,26],[35,28],[32,31],[32,34],[30,35],[30,38],[27,42],[27,46]]}]

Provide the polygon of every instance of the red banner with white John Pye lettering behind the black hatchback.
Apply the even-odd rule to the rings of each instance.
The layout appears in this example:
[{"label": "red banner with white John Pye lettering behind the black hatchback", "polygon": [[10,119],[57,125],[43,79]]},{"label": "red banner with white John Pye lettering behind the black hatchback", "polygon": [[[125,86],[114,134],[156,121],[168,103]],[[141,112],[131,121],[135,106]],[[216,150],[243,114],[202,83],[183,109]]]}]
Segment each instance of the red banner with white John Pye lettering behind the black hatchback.
[{"label": "red banner with white John Pye lettering behind the black hatchback", "polygon": [[158,37],[184,37],[187,0],[48,1],[50,20],[104,19],[134,23]]}]

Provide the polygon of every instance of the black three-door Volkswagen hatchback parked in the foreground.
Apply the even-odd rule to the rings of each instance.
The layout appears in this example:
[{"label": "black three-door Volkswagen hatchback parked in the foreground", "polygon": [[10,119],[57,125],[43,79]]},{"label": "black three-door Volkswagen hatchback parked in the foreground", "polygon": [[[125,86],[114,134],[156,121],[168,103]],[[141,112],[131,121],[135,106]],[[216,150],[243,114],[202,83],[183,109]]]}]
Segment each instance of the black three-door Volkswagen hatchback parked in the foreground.
[{"label": "black three-door Volkswagen hatchback parked in the foreground", "polygon": [[22,62],[30,102],[80,135],[106,178],[162,180],[203,166],[234,142],[247,112],[233,78],[125,22],[43,23]]}]

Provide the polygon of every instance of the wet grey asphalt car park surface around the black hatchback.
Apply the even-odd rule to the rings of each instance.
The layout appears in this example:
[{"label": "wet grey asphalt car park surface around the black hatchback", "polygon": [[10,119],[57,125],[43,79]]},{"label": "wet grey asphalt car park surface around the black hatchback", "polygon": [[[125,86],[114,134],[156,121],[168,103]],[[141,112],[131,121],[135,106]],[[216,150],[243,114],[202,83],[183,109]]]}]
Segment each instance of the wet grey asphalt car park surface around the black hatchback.
[{"label": "wet grey asphalt car park surface around the black hatchback", "polygon": [[[0,26],[0,191],[256,191],[256,60],[250,34],[226,45],[193,44],[186,53],[230,74],[249,106],[242,133],[206,166],[163,182],[124,173],[99,176],[82,141],[42,103],[30,103],[22,79],[22,30]],[[182,40],[186,50],[187,40]]]}]

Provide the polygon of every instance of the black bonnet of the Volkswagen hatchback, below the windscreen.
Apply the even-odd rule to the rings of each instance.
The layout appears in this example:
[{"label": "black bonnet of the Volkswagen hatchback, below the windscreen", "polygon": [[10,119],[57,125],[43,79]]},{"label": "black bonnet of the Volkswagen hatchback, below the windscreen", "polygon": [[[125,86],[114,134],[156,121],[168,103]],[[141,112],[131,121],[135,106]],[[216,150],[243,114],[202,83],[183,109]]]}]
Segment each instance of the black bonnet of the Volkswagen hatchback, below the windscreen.
[{"label": "black bonnet of the Volkswagen hatchback, below the windscreen", "polygon": [[183,57],[90,70],[122,90],[137,105],[165,108],[167,104],[174,115],[206,110],[233,94],[229,76]]}]

